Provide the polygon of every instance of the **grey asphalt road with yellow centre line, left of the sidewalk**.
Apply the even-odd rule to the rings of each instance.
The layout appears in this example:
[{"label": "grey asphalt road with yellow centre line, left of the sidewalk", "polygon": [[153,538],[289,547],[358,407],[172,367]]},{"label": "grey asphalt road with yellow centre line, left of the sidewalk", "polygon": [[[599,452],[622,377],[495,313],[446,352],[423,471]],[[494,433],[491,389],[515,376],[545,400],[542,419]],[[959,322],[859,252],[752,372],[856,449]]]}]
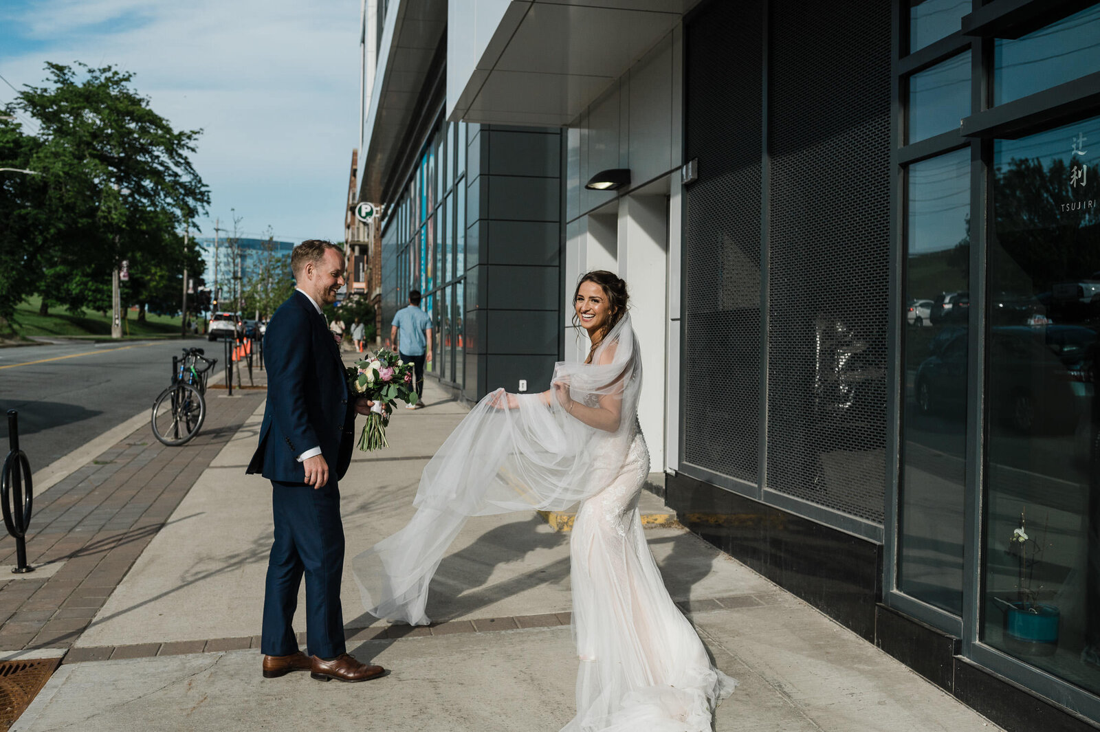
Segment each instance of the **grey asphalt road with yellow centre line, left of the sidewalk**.
[{"label": "grey asphalt road with yellow centre line, left of the sidewalk", "polygon": [[[221,368],[221,344],[186,343],[207,348]],[[170,340],[0,348],[0,455],[8,453],[9,409],[19,410],[20,447],[34,472],[148,410],[168,386],[172,357],[183,345]]]}]

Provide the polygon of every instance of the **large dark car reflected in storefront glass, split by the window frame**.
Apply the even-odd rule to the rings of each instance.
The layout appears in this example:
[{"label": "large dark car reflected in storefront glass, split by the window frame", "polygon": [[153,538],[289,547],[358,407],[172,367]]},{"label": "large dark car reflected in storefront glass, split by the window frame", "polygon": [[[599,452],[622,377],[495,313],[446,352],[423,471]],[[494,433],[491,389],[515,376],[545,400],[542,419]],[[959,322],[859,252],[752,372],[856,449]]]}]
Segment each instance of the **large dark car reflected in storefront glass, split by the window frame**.
[{"label": "large dark car reflected in storefront glass, split by the window frame", "polygon": [[[1093,396],[1097,332],[1080,325],[999,325],[990,329],[991,417],[1025,434],[1069,432]],[[967,329],[933,341],[916,370],[914,398],[922,413],[961,417],[967,395]]]}]

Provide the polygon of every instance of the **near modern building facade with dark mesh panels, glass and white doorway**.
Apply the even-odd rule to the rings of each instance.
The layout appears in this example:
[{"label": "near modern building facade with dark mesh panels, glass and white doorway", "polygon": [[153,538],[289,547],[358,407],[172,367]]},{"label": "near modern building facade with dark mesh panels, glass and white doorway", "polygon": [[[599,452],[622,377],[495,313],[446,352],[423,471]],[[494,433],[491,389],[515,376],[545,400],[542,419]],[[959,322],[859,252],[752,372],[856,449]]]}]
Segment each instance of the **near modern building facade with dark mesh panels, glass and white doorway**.
[{"label": "near modern building facade with dark mesh panels, glass and white doorway", "polygon": [[385,12],[360,197],[441,381],[543,388],[618,271],[682,522],[1005,729],[1094,729],[1100,3]]}]

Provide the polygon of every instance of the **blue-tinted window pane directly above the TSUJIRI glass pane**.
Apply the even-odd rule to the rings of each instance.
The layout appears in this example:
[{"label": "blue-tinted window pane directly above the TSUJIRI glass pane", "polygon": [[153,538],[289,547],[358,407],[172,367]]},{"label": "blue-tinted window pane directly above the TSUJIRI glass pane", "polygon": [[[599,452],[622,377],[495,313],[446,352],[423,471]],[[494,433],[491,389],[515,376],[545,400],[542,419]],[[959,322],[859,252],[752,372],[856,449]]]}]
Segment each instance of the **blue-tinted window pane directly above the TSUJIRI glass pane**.
[{"label": "blue-tinted window pane directly above the TSUJIRI glass pane", "polygon": [[998,38],[993,104],[1003,104],[1100,69],[1100,4],[1019,38]]}]

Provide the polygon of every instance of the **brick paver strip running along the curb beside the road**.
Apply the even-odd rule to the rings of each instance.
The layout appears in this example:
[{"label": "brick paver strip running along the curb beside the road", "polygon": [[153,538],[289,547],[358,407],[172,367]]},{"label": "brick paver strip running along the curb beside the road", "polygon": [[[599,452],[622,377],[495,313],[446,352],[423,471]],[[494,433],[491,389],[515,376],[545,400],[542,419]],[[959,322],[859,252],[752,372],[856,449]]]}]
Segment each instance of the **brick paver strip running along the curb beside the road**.
[{"label": "brick paver strip running along the curb beside the road", "polygon": [[[208,399],[202,431],[182,447],[162,445],[142,426],[35,496],[28,561],[64,564],[42,580],[0,577],[0,650],[72,646],[264,393]],[[0,564],[15,564],[13,545],[0,554]],[[66,661],[106,658],[111,652],[77,648]],[[141,653],[154,655],[156,648]]]}]

